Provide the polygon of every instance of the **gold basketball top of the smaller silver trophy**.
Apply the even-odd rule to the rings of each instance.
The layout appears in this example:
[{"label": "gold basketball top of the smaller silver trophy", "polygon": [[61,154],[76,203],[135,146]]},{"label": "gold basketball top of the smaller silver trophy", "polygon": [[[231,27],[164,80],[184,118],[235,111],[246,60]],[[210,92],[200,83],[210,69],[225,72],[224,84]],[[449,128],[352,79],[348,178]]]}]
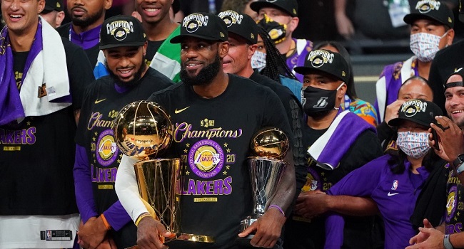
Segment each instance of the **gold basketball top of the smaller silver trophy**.
[{"label": "gold basketball top of the smaller silver trophy", "polygon": [[283,159],[288,152],[288,137],[281,129],[260,129],[251,139],[251,152],[256,157]]}]

